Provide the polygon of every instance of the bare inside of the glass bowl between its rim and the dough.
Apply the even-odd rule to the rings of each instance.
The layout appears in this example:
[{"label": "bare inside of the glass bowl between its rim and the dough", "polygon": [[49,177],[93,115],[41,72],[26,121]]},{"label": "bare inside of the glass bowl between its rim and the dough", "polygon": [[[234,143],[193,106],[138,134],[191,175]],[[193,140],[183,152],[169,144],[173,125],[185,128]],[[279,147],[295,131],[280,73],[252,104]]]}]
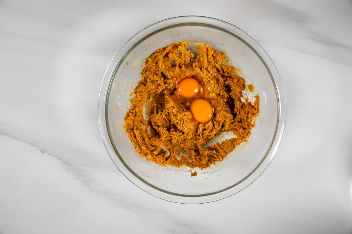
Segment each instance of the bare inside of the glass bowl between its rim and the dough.
[{"label": "bare inside of the glass bowl between its rim and the dough", "polygon": [[[247,143],[243,143],[222,161],[206,169],[194,168],[197,176],[190,176],[190,168],[159,166],[147,162],[134,151],[124,129],[124,117],[131,106],[133,90],[141,79],[145,59],[156,49],[173,42],[188,41],[209,44],[224,51],[229,63],[240,68],[241,75],[253,83],[260,96],[260,113],[256,127]],[[204,196],[232,188],[248,176],[267,156],[277,131],[278,97],[275,82],[266,63],[248,44],[245,38],[225,29],[208,24],[187,23],[164,27],[144,36],[126,52],[114,66],[106,96],[106,124],[109,139],[116,155],[125,168],[122,173],[132,173],[146,187],[177,196]],[[114,159],[115,158],[115,159]],[[125,174],[125,173],[124,173]],[[148,191],[147,191],[148,192]]]}]

